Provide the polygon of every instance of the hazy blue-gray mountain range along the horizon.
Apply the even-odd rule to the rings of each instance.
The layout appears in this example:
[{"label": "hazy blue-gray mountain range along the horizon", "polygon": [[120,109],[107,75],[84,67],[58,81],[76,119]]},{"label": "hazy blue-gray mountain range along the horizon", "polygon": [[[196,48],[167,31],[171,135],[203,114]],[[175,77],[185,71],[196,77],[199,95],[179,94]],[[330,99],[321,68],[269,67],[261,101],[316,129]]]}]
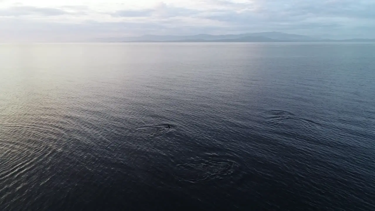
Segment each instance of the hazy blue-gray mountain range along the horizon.
[{"label": "hazy blue-gray mountain range along the horizon", "polygon": [[321,39],[282,32],[258,32],[239,35],[143,35],[139,37],[108,38],[103,42],[375,42],[375,39]]}]

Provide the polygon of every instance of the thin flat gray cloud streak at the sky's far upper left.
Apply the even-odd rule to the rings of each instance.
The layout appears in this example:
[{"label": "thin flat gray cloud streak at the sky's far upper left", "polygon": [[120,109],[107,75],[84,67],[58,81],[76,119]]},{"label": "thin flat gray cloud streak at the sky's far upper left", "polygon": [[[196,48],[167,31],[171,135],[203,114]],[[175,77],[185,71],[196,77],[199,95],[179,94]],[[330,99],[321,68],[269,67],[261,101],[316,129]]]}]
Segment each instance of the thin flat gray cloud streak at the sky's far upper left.
[{"label": "thin flat gray cloud streak at the sky's far upper left", "polygon": [[23,15],[43,15],[55,16],[69,14],[66,11],[57,8],[37,8],[31,6],[14,6],[0,10],[0,16],[23,16]]}]

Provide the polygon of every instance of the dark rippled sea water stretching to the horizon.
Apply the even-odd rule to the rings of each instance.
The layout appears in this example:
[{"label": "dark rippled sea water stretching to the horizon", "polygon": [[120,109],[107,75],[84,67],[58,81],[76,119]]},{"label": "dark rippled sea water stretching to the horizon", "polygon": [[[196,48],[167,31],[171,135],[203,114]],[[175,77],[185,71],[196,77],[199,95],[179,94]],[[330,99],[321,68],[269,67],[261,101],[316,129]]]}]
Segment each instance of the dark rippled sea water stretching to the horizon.
[{"label": "dark rippled sea water stretching to the horizon", "polygon": [[0,45],[0,210],[375,210],[375,44]]}]

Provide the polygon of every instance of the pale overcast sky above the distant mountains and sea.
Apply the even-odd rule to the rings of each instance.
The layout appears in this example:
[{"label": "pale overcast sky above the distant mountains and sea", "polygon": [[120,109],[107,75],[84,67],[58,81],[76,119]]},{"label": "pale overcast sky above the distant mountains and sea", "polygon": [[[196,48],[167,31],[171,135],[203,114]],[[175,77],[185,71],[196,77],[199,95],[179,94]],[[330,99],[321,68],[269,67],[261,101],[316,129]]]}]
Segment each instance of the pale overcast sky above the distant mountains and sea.
[{"label": "pale overcast sky above the distant mountains and sea", "polygon": [[0,0],[0,42],[267,31],[375,38],[375,0]]}]

